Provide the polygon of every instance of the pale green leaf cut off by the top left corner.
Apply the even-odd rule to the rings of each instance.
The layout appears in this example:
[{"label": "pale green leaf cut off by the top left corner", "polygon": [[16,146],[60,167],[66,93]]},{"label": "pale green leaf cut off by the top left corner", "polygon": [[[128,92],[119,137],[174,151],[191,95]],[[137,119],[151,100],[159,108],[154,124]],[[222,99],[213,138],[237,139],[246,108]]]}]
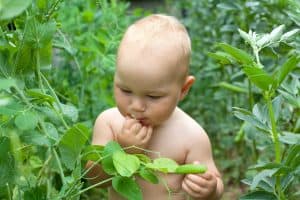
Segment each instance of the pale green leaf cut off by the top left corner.
[{"label": "pale green leaf cut off by the top left corner", "polygon": [[0,21],[20,15],[30,4],[31,0],[0,0]]}]

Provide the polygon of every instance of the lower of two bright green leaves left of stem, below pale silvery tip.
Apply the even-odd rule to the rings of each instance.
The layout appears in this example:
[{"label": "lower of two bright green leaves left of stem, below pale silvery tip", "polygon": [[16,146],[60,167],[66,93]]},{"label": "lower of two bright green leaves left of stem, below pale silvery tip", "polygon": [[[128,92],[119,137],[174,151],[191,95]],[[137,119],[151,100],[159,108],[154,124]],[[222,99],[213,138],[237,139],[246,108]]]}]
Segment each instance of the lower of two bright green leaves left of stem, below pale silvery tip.
[{"label": "lower of two bright green leaves left of stem, below pale silvery tip", "polygon": [[261,68],[245,66],[243,67],[243,71],[252,83],[264,91],[267,91],[273,83],[272,77]]}]

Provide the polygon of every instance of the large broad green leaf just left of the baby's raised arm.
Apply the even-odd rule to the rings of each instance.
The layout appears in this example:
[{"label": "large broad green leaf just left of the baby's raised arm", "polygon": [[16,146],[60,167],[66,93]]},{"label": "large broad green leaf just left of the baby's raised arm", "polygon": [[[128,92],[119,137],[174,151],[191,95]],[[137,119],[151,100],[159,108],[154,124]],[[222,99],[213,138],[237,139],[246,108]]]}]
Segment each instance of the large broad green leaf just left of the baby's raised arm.
[{"label": "large broad green leaf just left of the baby's raised arm", "polygon": [[90,131],[83,124],[75,124],[67,130],[59,142],[59,151],[62,163],[70,170],[75,168],[75,163],[90,137]]}]

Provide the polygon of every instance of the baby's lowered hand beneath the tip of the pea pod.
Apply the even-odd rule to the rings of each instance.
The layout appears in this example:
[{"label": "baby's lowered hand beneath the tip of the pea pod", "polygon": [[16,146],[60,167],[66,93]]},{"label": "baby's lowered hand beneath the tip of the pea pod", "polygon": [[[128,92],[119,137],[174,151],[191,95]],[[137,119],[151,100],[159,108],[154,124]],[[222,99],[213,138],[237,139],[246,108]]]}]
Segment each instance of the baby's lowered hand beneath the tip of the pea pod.
[{"label": "baby's lowered hand beneath the tip of the pea pod", "polygon": [[182,182],[182,188],[195,199],[214,199],[217,191],[216,176],[207,171],[204,174],[187,174]]}]

